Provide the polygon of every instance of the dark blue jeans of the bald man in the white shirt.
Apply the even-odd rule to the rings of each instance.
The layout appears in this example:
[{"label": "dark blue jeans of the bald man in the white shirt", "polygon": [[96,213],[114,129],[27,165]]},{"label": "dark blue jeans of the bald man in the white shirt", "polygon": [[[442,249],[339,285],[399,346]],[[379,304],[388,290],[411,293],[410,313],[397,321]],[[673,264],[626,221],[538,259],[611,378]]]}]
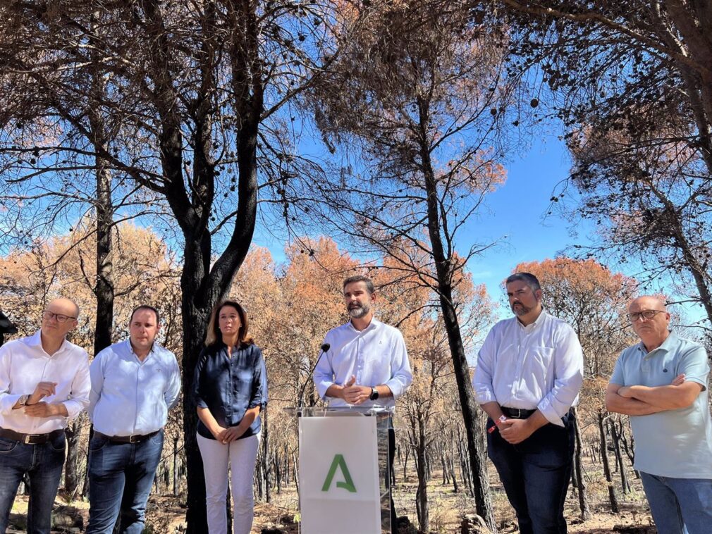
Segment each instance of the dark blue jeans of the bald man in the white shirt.
[{"label": "dark blue jeans of the bald man in the white shirt", "polygon": [[63,432],[41,445],[0,438],[0,533],[5,533],[12,503],[25,473],[30,481],[27,532],[49,532],[66,444]]}]

